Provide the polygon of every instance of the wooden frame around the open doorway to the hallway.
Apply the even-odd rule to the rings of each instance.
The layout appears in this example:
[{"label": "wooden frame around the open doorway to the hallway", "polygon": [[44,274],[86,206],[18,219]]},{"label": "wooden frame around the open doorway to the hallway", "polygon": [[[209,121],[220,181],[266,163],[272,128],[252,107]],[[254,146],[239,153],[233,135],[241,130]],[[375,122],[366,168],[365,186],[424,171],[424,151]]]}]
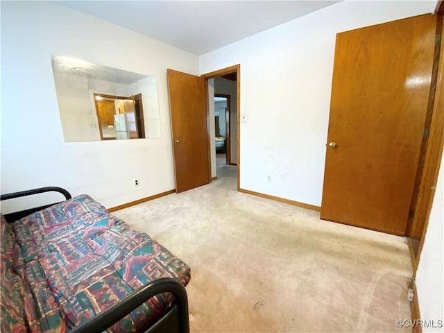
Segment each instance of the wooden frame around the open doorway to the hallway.
[{"label": "wooden frame around the open doorway to the hallway", "polygon": [[[201,76],[205,78],[208,87],[208,80],[212,78],[217,78],[218,76],[223,76],[225,74],[236,73],[236,91],[237,91],[237,191],[241,188],[241,65],[233,65],[217,71],[211,71],[207,74],[202,74]],[[208,103],[207,103],[208,105]],[[210,121],[210,110],[207,107],[207,119]],[[208,140],[210,140],[210,128],[208,128]],[[210,146],[210,141],[208,142]],[[209,148],[211,149],[211,148]],[[211,151],[210,151],[211,153]],[[209,167],[211,170],[211,158],[209,161]]]}]

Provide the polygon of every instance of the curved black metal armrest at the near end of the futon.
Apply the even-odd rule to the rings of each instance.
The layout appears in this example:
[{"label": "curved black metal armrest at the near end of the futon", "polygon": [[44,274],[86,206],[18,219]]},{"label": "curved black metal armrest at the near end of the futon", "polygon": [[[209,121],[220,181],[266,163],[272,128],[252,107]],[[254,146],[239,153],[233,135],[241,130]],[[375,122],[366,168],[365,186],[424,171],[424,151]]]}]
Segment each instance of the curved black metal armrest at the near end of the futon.
[{"label": "curved black metal armrest at the near end of the futon", "polygon": [[160,321],[146,330],[152,332],[189,333],[188,297],[185,287],[176,279],[154,280],[97,314],[91,321],[75,327],[72,333],[99,333],[117,323],[131,311],[159,293],[172,293],[175,302]]}]

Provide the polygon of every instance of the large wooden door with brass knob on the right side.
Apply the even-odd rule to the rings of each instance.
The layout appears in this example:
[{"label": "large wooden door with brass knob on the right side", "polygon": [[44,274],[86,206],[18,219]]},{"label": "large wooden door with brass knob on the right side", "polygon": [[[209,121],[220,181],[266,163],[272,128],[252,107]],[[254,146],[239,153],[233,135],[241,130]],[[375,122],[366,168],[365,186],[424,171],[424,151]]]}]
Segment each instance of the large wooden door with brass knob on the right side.
[{"label": "large wooden door with brass knob on the right side", "polygon": [[336,36],[321,219],[405,233],[435,31],[421,15]]}]

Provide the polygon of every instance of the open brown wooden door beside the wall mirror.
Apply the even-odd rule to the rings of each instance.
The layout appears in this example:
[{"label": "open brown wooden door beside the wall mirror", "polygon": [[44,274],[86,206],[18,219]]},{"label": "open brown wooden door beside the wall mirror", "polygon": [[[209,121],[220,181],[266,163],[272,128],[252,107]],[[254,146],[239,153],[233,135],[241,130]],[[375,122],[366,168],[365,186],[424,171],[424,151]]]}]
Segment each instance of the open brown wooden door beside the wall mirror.
[{"label": "open brown wooden door beside the wall mirror", "polygon": [[210,183],[205,78],[168,69],[176,192]]}]

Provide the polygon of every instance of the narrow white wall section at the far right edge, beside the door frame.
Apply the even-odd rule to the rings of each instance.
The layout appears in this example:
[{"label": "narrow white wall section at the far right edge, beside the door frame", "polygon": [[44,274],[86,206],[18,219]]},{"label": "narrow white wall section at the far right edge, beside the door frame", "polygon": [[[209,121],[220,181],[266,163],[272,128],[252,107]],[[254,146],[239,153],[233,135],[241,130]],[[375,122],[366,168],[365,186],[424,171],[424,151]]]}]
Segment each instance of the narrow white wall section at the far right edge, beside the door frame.
[{"label": "narrow white wall section at the far right edge, beside the door frame", "polygon": [[[429,216],[424,246],[416,271],[416,289],[421,319],[444,321],[444,155],[438,175],[438,183]],[[444,325],[444,324],[443,324]],[[443,327],[425,327],[422,332],[443,332]]]}]

